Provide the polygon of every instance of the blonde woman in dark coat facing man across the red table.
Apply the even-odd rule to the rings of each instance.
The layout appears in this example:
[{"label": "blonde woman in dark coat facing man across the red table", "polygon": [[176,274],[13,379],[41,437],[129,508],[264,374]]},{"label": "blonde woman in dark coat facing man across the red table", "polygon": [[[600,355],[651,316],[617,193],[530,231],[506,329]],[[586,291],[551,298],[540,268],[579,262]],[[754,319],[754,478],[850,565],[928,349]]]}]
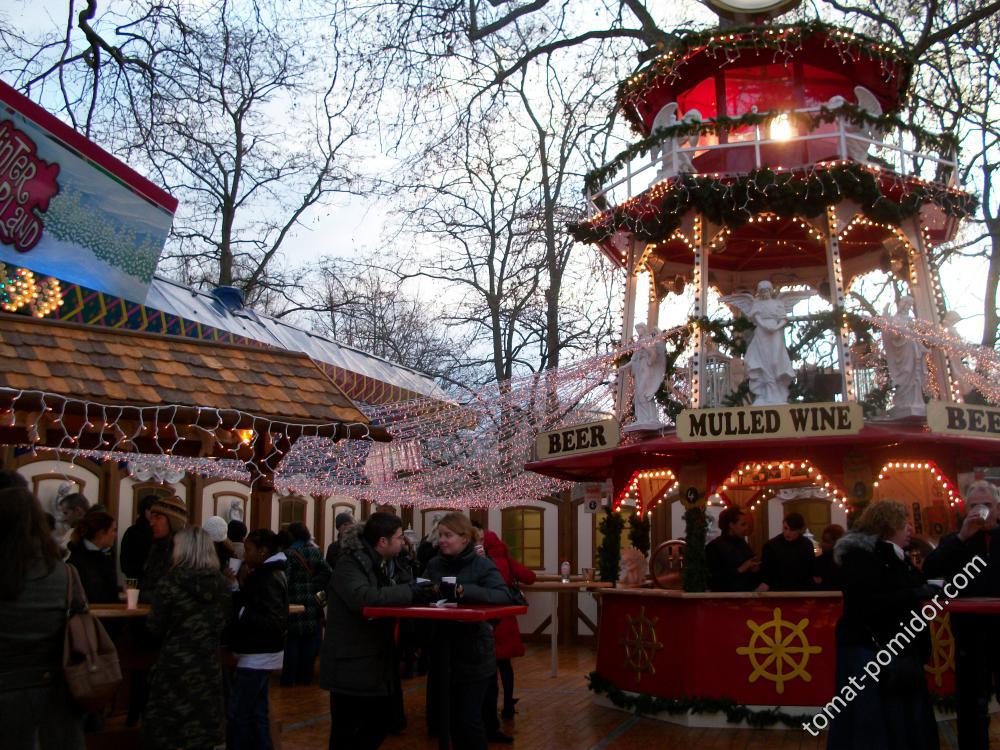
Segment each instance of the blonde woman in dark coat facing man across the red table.
[{"label": "blonde woman in dark coat facing man across the red table", "polygon": [[[476,553],[475,529],[468,517],[448,513],[437,529],[438,555],[427,563],[424,575],[439,587],[441,596],[459,604],[515,603],[497,566]],[[455,580],[446,582],[445,578]],[[450,664],[452,744],[463,750],[486,750],[482,707],[490,680],[495,681],[497,673],[492,626],[485,622],[448,623],[434,639],[431,659],[432,673],[443,659]],[[441,676],[435,673],[434,680],[438,679]]]}]

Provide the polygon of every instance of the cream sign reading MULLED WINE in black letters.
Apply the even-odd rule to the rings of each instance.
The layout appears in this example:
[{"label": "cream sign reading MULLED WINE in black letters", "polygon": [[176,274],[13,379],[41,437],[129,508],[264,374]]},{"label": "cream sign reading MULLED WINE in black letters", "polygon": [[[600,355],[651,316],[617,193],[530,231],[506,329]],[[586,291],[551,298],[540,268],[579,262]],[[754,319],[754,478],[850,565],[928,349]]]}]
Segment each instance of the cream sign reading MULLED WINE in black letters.
[{"label": "cream sign reading MULLED WINE in black letters", "polygon": [[677,438],[694,443],[857,435],[863,426],[864,410],[855,402],[685,409],[677,415]]}]

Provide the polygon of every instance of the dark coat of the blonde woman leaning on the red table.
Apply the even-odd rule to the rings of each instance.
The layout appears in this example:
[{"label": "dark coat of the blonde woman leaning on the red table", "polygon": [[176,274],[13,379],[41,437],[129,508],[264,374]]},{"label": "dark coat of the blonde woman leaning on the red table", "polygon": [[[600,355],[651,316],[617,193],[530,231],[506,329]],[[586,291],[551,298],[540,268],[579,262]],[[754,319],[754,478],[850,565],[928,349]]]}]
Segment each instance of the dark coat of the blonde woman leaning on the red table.
[{"label": "dark coat of the blonde woman leaning on the red table", "polygon": [[[424,569],[424,576],[440,583],[454,576],[462,585],[466,604],[514,604],[503,576],[488,557],[476,553],[472,544],[458,555],[438,554]],[[451,649],[452,684],[478,682],[492,677],[497,670],[493,628],[485,622],[448,623],[450,628],[444,648]]]}]

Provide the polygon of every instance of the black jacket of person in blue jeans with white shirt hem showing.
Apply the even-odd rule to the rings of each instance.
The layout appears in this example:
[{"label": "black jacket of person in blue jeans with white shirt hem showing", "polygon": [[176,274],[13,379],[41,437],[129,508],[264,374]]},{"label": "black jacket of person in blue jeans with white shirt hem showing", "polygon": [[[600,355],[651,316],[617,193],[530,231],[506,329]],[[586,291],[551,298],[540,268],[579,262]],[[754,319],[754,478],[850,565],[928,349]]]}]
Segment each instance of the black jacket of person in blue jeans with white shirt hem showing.
[{"label": "black jacket of person in blue jeans with white shirt hem showing", "polygon": [[243,579],[233,595],[235,621],[226,643],[236,654],[274,654],[285,650],[288,633],[287,561],[281,553]]}]

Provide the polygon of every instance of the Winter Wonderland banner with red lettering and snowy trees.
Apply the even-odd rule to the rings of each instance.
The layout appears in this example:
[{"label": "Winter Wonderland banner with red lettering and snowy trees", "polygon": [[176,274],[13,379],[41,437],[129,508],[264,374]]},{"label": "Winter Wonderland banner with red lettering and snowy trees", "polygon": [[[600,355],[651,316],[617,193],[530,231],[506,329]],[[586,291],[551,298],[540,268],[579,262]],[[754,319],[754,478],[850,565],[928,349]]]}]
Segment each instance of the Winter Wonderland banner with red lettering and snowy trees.
[{"label": "Winter Wonderland banner with red lettering and snowy trees", "polygon": [[144,302],[176,209],[0,82],[0,262]]}]

